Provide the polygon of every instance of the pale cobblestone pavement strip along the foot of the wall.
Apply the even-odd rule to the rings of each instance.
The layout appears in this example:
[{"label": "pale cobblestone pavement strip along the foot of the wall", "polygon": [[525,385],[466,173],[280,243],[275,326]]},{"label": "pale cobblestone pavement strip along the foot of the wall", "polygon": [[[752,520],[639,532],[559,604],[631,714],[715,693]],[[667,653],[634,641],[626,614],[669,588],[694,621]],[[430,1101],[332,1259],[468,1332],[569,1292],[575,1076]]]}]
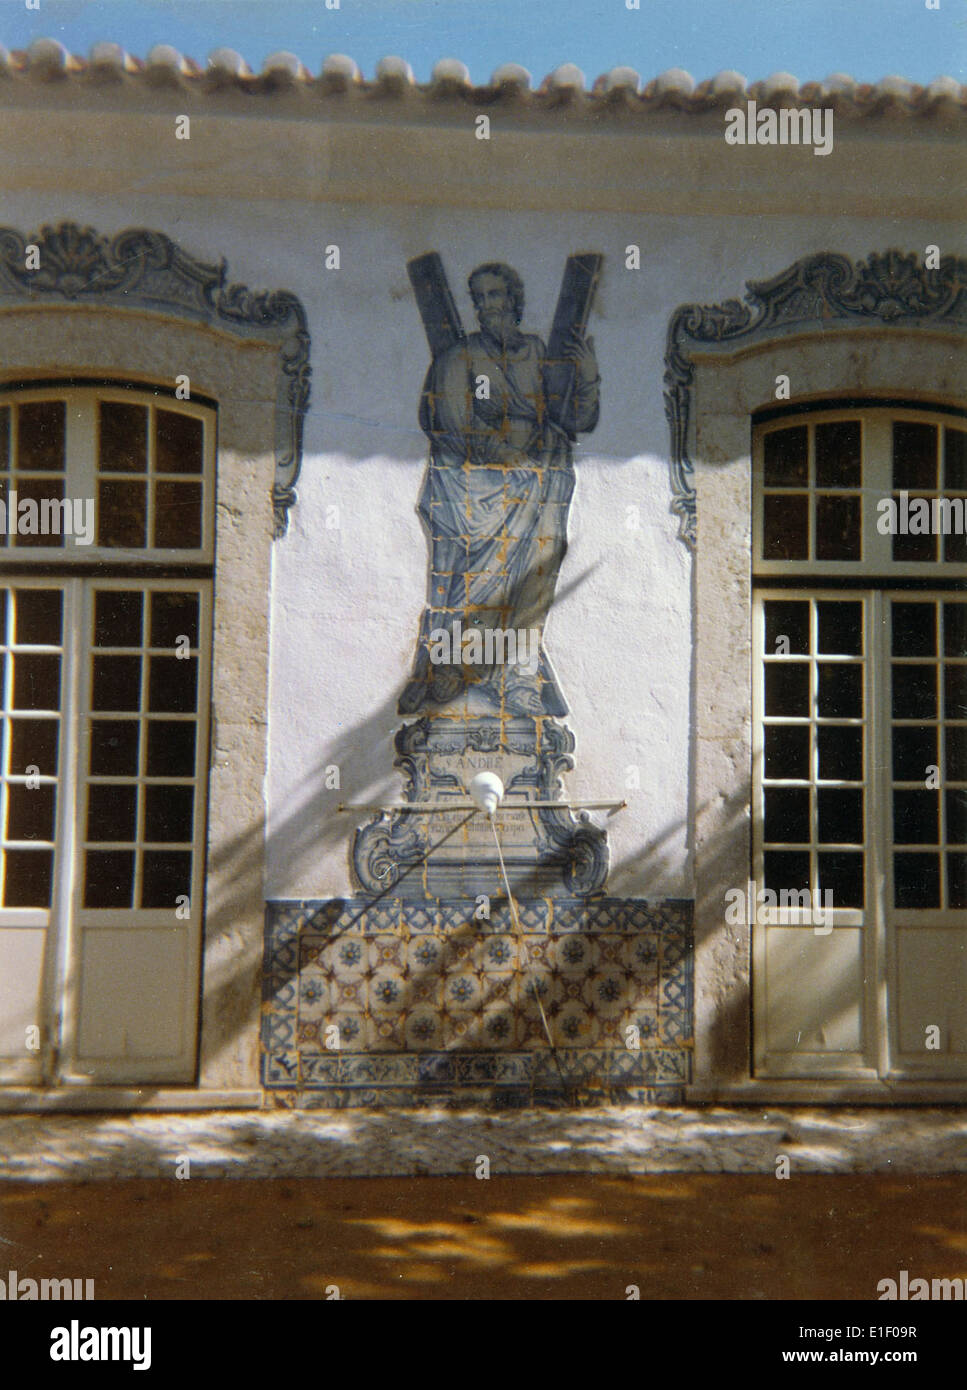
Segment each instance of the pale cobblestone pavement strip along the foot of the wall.
[{"label": "pale cobblestone pavement strip along the foot of the wall", "polygon": [[967,1109],[609,1108],[0,1115],[0,1177],[967,1172]]}]

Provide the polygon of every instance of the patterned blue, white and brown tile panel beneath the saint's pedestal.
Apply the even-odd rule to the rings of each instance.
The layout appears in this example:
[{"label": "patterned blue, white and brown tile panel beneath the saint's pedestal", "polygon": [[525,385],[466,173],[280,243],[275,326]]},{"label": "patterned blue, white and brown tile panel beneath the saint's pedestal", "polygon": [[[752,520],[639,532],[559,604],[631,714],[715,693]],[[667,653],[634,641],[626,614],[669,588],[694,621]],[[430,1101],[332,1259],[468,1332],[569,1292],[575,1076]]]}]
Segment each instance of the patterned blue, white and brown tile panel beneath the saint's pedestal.
[{"label": "patterned blue, white and brown tile panel beneath the saint's pedestal", "polygon": [[[275,1105],[679,1104],[692,903],[270,902],[263,1084]],[[538,998],[554,1041],[545,1034]]]}]

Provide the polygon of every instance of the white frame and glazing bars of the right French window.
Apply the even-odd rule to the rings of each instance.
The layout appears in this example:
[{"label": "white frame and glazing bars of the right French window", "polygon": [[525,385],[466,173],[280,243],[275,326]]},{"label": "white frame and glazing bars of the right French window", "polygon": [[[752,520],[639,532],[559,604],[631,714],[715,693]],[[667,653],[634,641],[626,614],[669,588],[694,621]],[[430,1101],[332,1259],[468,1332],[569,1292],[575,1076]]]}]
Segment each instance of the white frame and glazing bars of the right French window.
[{"label": "white frame and glazing bars of the right French window", "polygon": [[[767,933],[770,926],[756,920],[752,929],[752,991],[753,991],[753,1076],[763,1080],[823,1079],[829,1081],[910,1081],[918,1077],[927,1080],[963,1080],[966,1059],[963,1054],[920,1052],[903,1054],[899,1049],[899,999],[898,999],[898,933],[918,927],[964,929],[964,913],[960,909],[896,909],[893,908],[893,866],[892,866],[892,749],[889,694],[889,631],[888,605],[904,599],[939,600],[960,596],[967,582],[967,564],[953,562],[893,562],[892,537],[877,530],[877,502],[889,498],[892,489],[892,423],[910,420],[939,425],[938,446],[942,449],[942,427],[967,430],[963,411],[942,410],[931,404],[913,407],[888,402],[852,404],[849,400],[831,403],[829,409],[809,411],[768,413],[763,423],[753,421],[753,525],[752,525],[752,569],[753,569],[753,806],[752,806],[752,870],[757,887],[764,883],[764,826],[763,826],[763,773],[764,773],[764,669],[770,660],[782,660],[764,651],[764,605],[770,600],[853,600],[863,605],[864,617],[864,660],[866,680],[863,682],[864,723],[864,878],[866,908],[834,908],[832,931],[861,929],[861,970],[863,988],[860,999],[861,1045],[854,1052],[777,1052],[770,1051],[766,1017],[770,1005],[768,973],[766,969]],[[863,485],[861,485],[861,538],[860,560],[763,560],[763,439],[772,430],[792,428],[800,424],[824,424],[832,421],[859,420],[863,439]],[[809,450],[809,491],[813,507],[814,460],[813,435]],[[877,474],[871,467],[881,471]],[[943,478],[939,477],[941,492]],[[827,491],[827,489],[821,489]],[[810,514],[810,530],[813,514]],[[770,584],[777,577],[791,580],[784,587]],[[839,581],[829,587],[829,580]],[[918,580],[916,585],[896,588],[893,581]],[[938,587],[938,580],[948,581]],[[848,581],[848,582],[843,582]],[[949,581],[960,581],[953,588]],[[791,653],[788,660],[803,660]],[[816,653],[810,651],[810,662]],[[824,660],[835,657],[823,657]],[[941,662],[942,657],[934,659]],[[810,710],[814,717],[814,710]],[[795,719],[775,716],[777,723],[796,723]],[[804,723],[806,720],[803,720]],[[816,767],[810,769],[814,776]],[[816,827],[813,827],[814,838]],[[910,922],[916,916],[916,920]],[[907,922],[900,919],[906,917]],[[791,930],[813,935],[811,924],[791,926]],[[818,938],[820,944],[823,940]],[[759,1020],[759,1022],[756,1022]]]}]

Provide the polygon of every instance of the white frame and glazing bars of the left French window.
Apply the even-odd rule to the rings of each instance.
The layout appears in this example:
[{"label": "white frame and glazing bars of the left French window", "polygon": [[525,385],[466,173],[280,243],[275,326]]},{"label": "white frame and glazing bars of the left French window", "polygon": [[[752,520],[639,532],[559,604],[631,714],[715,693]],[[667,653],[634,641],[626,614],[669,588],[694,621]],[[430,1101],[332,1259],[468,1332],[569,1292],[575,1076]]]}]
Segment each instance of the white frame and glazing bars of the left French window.
[{"label": "white frame and glazing bars of the left French window", "polygon": [[[85,931],[176,930],[185,937],[185,980],[181,992],[186,1011],[182,1037],[186,1040],[178,1056],[167,1069],[171,1083],[192,1083],[197,1069],[199,963],[201,955],[206,848],[208,821],[208,744],[213,681],[213,603],[214,603],[214,498],[215,498],[215,435],[217,414],[213,404],[181,402],[168,392],[128,389],[119,384],[90,381],[64,384],[44,381],[38,386],[10,386],[0,392],[0,406],[22,404],[33,400],[64,400],[67,407],[65,434],[65,496],[89,496],[96,509],[96,428],[97,403],[117,400],[144,404],[150,410],[170,409],[203,420],[203,473],[179,474],[186,481],[197,481],[203,488],[203,546],[192,549],[136,549],[78,545],[69,534],[64,546],[6,546],[0,549],[0,585],[4,588],[57,588],[63,592],[63,657],[60,691],[60,739],[57,763],[57,808],[54,824],[54,867],[51,905],[49,909],[0,906],[0,926],[17,924],[46,929],[44,970],[42,983],[43,1047],[39,1054],[24,1058],[0,1059],[0,1084],[31,1084],[46,1087],[96,1087],[99,1084],[150,1080],[157,1072],[157,1059],[143,1065],[133,1058],[111,1059],[78,1056],[78,972],[79,951]],[[15,414],[15,413],[14,413]],[[11,431],[14,424],[11,421]],[[149,450],[154,431],[149,421]],[[14,441],[11,439],[11,443]],[[149,452],[149,492],[151,478]],[[8,474],[10,475],[10,474]],[[150,507],[150,500],[149,500]],[[94,512],[96,514],[96,512]],[[150,517],[150,512],[149,512]],[[150,532],[149,532],[150,534]],[[94,531],[96,537],[96,531]],[[83,563],[88,562],[88,563]],[[83,569],[79,570],[79,564]],[[185,577],[171,577],[170,569],[190,566]],[[43,570],[43,573],[36,573]],[[128,573],[125,573],[128,571]],[[193,721],[196,726],[196,776],[175,778],[195,785],[192,885],[189,916],[176,917],[171,909],[140,908],[83,908],[83,834],[86,817],[86,767],[89,756],[88,719],[90,695],[90,667],[93,655],[93,592],[94,589],[192,591],[199,594],[197,691]],[[10,634],[8,634],[10,639]],[[144,648],[150,639],[147,613],[143,631]],[[10,663],[8,663],[10,664]],[[10,680],[7,673],[7,680]],[[142,717],[147,703],[147,669],[142,680]],[[132,712],[133,713],[133,712]],[[157,712],[160,717],[172,717]],[[176,717],[176,716],[174,716]],[[186,716],[188,717],[188,716]],[[144,738],[142,724],[142,745]],[[142,746],[143,752],[143,746]],[[139,780],[146,777],[139,759]],[[139,798],[143,801],[143,798]],[[143,821],[140,810],[139,828]],[[139,841],[140,844],[140,841]],[[124,920],[122,920],[124,919]]]}]

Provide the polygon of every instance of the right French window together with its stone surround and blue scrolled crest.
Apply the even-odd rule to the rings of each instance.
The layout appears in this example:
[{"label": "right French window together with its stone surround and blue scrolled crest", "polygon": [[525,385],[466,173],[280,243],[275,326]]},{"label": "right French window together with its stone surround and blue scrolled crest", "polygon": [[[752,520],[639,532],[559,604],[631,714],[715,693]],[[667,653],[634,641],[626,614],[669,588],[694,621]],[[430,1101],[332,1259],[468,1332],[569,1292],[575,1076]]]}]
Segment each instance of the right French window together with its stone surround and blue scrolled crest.
[{"label": "right French window together with its stone surround and blue scrolled crest", "polygon": [[[695,1099],[964,1095],[966,271],[823,252],[668,328]],[[747,901],[784,888],[832,891],[828,923]]]}]

